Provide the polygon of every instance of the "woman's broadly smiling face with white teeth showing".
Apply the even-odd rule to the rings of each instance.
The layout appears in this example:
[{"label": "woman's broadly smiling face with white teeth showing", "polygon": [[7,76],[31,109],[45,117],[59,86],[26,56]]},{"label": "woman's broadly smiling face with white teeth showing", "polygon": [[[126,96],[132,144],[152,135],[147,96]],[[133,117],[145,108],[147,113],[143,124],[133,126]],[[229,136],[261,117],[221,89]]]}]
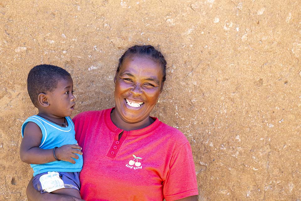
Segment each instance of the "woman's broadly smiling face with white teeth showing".
[{"label": "woman's broadly smiling face with white teeth showing", "polygon": [[162,68],[150,57],[129,55],[115,77],[115,110],[127,123],[148,120],[161,93]]}]

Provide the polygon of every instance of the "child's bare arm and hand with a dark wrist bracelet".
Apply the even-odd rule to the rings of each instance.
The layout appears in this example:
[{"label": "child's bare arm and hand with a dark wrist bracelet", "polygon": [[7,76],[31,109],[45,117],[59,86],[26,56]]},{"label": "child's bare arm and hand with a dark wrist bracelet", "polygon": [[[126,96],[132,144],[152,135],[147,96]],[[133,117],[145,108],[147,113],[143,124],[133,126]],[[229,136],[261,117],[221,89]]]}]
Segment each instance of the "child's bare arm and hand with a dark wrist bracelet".
[{"label": "child's bare arm and hand with a dark wrist bracelet", "polygon": [[[39,148],[42,139],[42,131],[34,122],[28,122],[24,128],[24,136],[20,146],[20,158],[29,164],[43,164],[55,161],[53,149]],[[55,149],[55,156],[59,160],[75,163],[72,158],[78,159],[82,155],[81,147],[77,144],[67,144]]]}]

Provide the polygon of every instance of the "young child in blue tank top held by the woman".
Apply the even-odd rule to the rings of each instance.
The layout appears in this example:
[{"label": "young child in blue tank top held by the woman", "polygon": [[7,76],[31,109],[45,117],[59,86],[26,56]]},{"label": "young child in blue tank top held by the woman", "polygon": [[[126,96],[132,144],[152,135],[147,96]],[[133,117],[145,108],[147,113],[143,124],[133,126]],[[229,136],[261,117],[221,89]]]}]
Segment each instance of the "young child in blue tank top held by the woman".
[{"label": "young child in blue tank top held by the woman", "polygon": [[22,125],[20,158],[34,170],[34,188],[80,198],[82,148],[69,117],[75,106],[72,78],[63,68],[38,65],[28,74],[27,90],[39,113]]}]

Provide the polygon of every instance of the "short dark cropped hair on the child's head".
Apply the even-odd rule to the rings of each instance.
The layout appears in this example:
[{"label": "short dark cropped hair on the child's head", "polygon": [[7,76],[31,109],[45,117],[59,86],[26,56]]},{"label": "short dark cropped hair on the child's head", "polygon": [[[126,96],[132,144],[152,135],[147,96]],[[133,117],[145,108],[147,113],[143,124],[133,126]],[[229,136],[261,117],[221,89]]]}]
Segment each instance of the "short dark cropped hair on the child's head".
[{"label": "short dark cropped hair on the child's head", "polygon": [[27,77],[27,91],[34,106],[39,105],[40,93],[54,91],[57,83],[68,76],[70,74],[65,69],[54,65],[42,64],[32,68]]}]

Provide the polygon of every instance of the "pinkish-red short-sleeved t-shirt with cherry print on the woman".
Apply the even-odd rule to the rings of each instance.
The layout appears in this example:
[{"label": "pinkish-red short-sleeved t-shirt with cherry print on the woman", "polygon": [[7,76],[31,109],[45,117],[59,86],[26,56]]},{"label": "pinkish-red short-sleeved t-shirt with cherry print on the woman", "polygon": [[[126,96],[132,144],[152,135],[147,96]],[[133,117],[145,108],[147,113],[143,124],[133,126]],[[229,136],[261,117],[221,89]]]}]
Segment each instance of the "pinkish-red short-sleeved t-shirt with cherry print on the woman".
[{"label": "pinkish-red short-sleeved t-shirt with cherry print on the woman", "polygon": [[73,118],[82,147],[81,196],[95,200],[177,200],[198,195],[192,151],[186,137],[157,118],[150,126],[124,131],[111,109]]}]

